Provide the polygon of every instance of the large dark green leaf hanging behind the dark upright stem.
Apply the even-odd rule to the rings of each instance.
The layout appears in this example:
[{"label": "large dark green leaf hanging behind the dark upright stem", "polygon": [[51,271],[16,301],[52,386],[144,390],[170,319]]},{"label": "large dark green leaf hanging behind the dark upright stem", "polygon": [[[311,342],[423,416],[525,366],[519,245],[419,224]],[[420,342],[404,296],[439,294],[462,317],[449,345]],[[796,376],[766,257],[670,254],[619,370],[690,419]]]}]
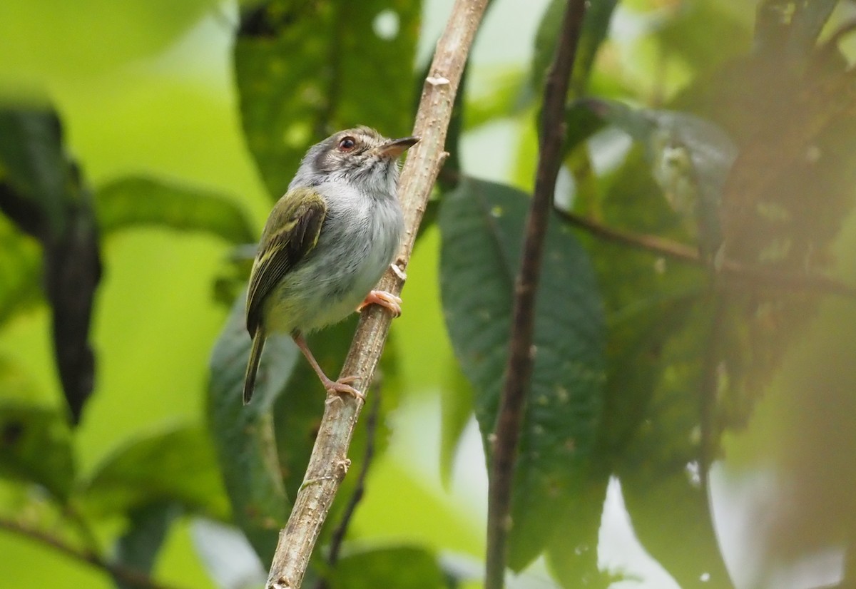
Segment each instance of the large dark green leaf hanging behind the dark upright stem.
[{"label": "large dark green leaf hanging behind the dark upright stem", "polygon": [[[513,188],[467,180],[440,212],[443,312],[455,356],[476,390],[488,451],[528,204]],[[586,479],[602,402],[603,346],[603,311],[588,256],[570,230],[553,221],[545,235],[537,353],[514,479],[509,565],[515,570],[544,548],[556,514]]]}]

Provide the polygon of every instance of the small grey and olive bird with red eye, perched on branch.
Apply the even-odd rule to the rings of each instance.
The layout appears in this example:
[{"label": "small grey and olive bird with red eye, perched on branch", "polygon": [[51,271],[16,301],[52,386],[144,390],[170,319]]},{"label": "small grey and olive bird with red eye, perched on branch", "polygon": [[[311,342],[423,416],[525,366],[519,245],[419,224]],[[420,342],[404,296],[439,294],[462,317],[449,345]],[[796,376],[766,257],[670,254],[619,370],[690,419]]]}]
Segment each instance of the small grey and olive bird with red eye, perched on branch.
[{"label": "small grey and olive bird with red eye, perched on branch", "polygon": [[244,403],[253,396],[265,337],[288,333],[333,393],[362,397],[332,380],[304,334],[338,323],[366,305],[397,317],[401,299],[372,290],[395,259],[404,230],[398,202],[398,157],[418,137],[388,140],[372,128],[339,131],[312,146],[288,191],[270,211],[247,291],[247,331],[253,348]]}]

